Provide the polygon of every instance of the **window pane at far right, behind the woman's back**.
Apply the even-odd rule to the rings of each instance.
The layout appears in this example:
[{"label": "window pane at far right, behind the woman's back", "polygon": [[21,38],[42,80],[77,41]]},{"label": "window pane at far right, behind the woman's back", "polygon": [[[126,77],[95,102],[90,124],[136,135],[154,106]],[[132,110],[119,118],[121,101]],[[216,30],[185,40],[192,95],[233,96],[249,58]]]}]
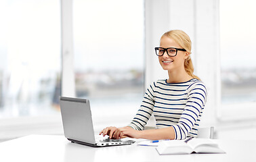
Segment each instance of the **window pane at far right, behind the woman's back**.
[{"label": "window pane at far right, behind the woman's back", "polygon": [[221,0],[222,103],[256,102],[256,1]]}]

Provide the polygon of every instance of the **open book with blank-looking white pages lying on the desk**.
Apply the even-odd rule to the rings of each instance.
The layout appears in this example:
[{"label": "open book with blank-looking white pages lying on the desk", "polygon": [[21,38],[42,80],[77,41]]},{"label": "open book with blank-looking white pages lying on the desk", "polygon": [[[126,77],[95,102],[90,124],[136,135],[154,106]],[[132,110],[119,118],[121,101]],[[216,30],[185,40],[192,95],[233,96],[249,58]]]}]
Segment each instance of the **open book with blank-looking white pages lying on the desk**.
[{"label": "open book with blank-looking white pages lying on the desk", "polygon": [[156,150],[160,155],[190,154],[190,153],[225,153],[217,142],[207,138],[192,138],[184,140],[166,140],[158,144]]}]

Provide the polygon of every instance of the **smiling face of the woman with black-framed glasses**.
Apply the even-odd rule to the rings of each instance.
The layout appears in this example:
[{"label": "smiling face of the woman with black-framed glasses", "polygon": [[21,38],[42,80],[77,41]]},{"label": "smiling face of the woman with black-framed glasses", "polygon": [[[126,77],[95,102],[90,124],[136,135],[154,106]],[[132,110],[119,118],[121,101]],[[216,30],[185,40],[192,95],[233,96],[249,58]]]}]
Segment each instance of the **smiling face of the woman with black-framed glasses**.
[{"label": "smiling face of the woman with black-framed glasses", "polygon": [[[172,38],[163,36],[160,41],[160,47],[170,48],[175,47],[178,49],[183,49],[180,47]],[[169,72],[173,70],[184,70],[184,60],[188,58],[189,53],[187,51],[177,51],[177,55],[170,57],[167,52],[163,56],[158,56],[159,63],[161,64],[163,70],[168,70]]]}]

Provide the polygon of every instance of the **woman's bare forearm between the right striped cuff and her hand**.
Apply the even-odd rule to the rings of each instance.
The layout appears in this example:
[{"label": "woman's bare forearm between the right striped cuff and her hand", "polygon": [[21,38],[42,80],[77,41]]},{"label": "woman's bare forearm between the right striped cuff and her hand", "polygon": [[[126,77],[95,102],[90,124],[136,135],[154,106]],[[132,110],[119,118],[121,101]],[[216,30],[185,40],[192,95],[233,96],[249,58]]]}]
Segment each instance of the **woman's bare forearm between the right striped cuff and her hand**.
[{"label": "woman's bare forearm between the right striped cuff and her hand", "polygon": [[139,138],[145,138],[149,140],[173,140],[175,138],[173,127],[160,128],[156,130],[141,130],[139,134]]}]

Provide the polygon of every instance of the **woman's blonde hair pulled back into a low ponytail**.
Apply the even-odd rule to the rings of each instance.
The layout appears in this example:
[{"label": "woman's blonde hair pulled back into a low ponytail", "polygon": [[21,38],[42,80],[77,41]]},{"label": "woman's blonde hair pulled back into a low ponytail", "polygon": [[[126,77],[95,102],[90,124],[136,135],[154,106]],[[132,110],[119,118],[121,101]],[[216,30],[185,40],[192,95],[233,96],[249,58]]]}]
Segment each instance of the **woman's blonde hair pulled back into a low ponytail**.
[{"label": "woman's blonde hair pulled back into a low ponytail", "polygon": [[[192,43],[191,43],[190,37],[184,31],[170,30],[169,32],[165,32],[165,34],[163,34],[163,36],[172,38],[180,47],[186,49],[186,51],[188,53],[191,53],[191,44]],[[163,38],[163,36],[161,38]],[[193,67],[193,63],[192,63],[190,55],[184,61],[184,68],[185,68],[186,72],[188,73],[188,75],[192,76],[192,78],[196,78],[196,79],[200,80],[200,78],[198,78],[198,76],[193,74],[194,67]]]}]

